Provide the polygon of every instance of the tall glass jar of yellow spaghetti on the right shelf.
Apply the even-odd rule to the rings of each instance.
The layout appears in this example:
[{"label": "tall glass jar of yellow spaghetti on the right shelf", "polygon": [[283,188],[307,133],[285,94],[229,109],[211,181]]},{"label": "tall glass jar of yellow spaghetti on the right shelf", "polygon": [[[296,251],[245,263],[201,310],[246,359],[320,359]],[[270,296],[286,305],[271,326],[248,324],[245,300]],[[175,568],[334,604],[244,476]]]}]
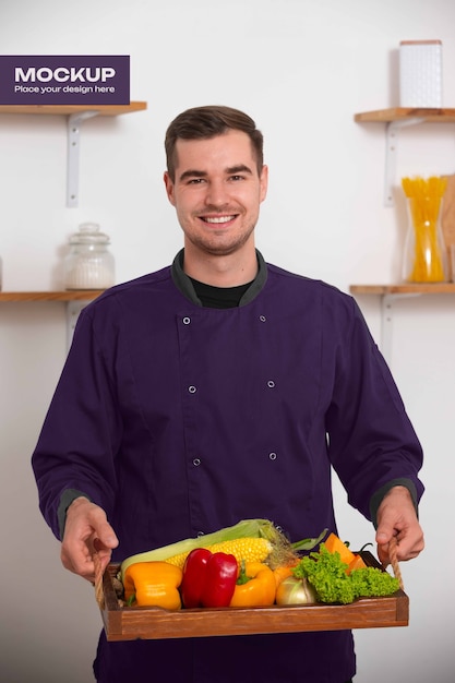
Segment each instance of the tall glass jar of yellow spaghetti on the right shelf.
[{"label": "tall glass jar of yellow spaghetti on the right shelf", "polygon": [[447,279],[447,255],[441,227],[443,178],[404,178],[408,230],[403,260],[407,283],[443,283]]}]

